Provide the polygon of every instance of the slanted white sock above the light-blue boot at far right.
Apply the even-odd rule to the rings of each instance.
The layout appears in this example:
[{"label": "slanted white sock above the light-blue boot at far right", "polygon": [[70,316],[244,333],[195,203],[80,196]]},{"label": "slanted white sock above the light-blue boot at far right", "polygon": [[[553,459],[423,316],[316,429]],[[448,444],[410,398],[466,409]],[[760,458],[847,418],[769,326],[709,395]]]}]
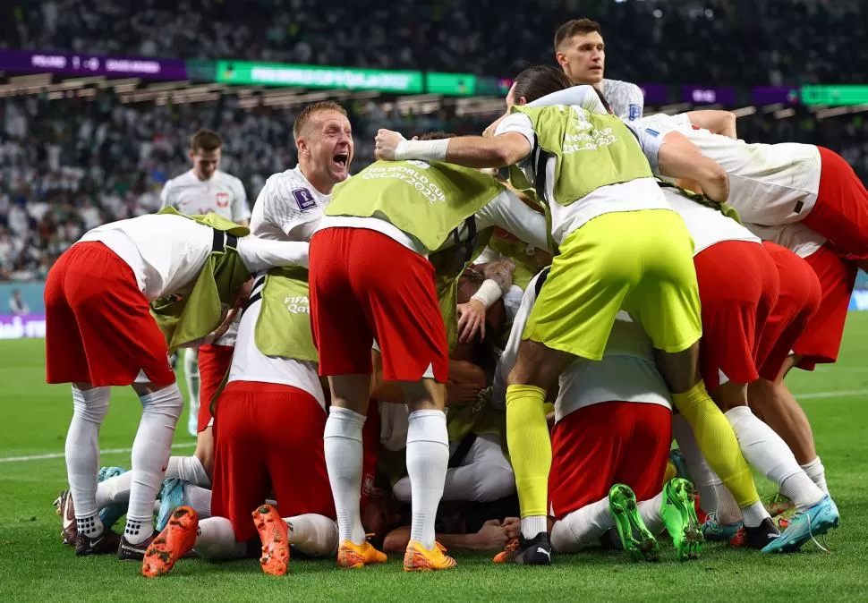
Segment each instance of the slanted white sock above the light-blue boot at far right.
[{"label": "slanted white sock above the light-blue boot at far right", "polygon": [[736,406],[725,413],[745,460],[778,484],[781,494],[792,500],[799,511],[816,505],[823,493],[796,463],[787,443],[762,422],[747,406]]}]

